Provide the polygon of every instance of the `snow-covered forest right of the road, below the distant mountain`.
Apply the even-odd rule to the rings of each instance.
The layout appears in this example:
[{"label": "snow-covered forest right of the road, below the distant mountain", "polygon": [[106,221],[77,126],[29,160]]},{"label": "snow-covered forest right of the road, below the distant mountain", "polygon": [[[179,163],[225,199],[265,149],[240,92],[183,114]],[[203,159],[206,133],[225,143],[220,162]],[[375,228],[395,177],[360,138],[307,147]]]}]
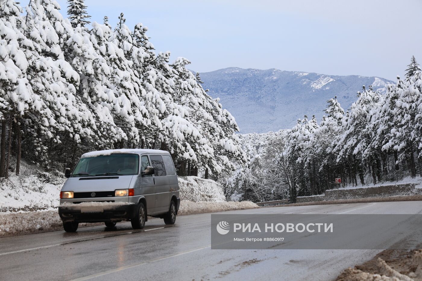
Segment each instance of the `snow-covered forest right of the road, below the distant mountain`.
[{"label": "snow-covered forest right of the road, below the distant mountain", "polygon": [[289,130],[241,136],[248,165],[227,178],[232,200],[320,195],[343,186],[422,176],[422,74],[414,57],[385,95],[362,87],[345,112],[327,101],[322,120],[304,116]]}]

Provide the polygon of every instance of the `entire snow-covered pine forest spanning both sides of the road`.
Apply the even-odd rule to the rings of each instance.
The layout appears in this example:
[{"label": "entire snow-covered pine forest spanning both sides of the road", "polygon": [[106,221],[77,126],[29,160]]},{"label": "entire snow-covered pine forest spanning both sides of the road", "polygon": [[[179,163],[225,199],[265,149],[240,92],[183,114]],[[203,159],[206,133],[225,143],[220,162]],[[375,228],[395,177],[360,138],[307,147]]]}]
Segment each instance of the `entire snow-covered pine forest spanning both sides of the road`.
[{"label": "entire snow-covered pine forest spanning both sides of the road", "polygon": [[201,86],[189,60],[157,52],[147,27],[124,14],[89,22],[83,0],[0,0],[0,177],[20,159],[46,171],[72,168],[87,151],[163,149],[179,176],[217,179],[228,199],[267,201],[343,186],[422,176],[422,74],[381,94],[363,86],[344,110],[289,130],[236,134],[233,116]]}]

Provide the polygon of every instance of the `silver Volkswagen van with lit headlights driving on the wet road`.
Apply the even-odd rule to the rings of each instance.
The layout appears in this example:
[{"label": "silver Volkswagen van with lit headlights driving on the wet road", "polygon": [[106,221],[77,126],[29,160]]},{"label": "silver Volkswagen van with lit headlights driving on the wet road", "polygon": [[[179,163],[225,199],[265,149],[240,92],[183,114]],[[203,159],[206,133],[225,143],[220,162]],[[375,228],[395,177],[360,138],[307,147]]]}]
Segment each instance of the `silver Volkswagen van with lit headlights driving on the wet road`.
[{"label": "silver Volkswagen van with lit headlights driving on the wet road", "polygon": [[147,216],[174,224],[180,206],[176,169],[168,151],[111,149],[85,153],[60,192],[59,215],[66,232],[79,222],[130,221],[142,229]]}]

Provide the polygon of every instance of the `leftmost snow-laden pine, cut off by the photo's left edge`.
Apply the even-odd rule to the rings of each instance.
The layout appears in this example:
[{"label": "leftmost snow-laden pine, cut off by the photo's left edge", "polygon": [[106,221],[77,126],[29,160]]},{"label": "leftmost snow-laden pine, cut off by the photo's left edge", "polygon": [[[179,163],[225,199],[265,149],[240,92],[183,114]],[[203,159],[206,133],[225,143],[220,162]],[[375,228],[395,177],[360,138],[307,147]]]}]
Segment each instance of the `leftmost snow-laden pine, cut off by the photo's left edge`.
[{"label": "leftmost snow-laden pine, cut off by the photo's left edge", "polygon": [[[16,135],[20,135],[15,134],[12,139],[11,128],[19,128],[19,116],[27,113],[34,103],[40,102],[38,105],[42,105],[39,97],[32,95],[31,89],[27,89],[28,79],[25,72],[28,67],[26,59],[30,56],[27,44],[30,41],[22,33],[21,13],[22,8],[15,1],[0,2],[0,177],[8,174],[7,163],[10,158],[11,141],[15,142]],[[39,109],[41,108],[42,106]],[[8,138],[6,138],[6,131],[9,132]],[[7,146],[6,143],[8,143]],[[16,173],[19,174],[20,145],[17,152]]]}]

